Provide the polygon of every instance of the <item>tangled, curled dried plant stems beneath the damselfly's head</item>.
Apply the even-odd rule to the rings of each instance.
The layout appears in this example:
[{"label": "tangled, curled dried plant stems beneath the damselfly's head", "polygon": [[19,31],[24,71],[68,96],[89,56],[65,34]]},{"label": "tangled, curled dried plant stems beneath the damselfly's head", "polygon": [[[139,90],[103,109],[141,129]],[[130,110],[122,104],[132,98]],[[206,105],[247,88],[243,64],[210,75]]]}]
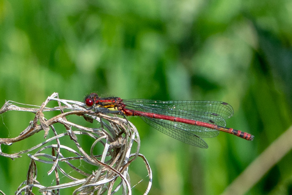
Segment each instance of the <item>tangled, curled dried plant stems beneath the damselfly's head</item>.
[{"label": "tangled, curled dried plant stems beneath the damselfly's head", "polygon": [[[57,101],[57,107],[46,107],[49,101]],[[61,105],[61,104],[65,105]],[[35,113],[35,118],[30,121],[29,126],[24,129],[18,137],[0,138],[0,145],[11,145],[12,143],[21,142],[22,140],[34,136],[37,132],[44,130],[44,140],[24,151],[19,151],[15,154],[2,153],[0,148],[0,155],[10,158],[21,157],[21,154],[28,154],[31,158],[28,167],[27,177],[24,182],[18,187],[16,194],[31,195],[34,189],[45,195],[51,193],[59,195],[60,189],[75,187],[73,195],[95,195],[108,194],[112,195],[120,190],[122,194],[131,195],[131,187],[129,182],[128,167],[137,157],[141,157],[146,165],[148,171],[149,183],[145,191],[148,194],[152,184],[152,172],[145,156],[139,154],[140,139],[137,129],[126,119],[122,117],[115,117],[105,115],[103,113],[96,113],[84,108],[84,103],[73,100],[59,99],[58,94],[54,93],[48,97],[41,106],[26,105],[30,107],[21,107],[18,105],[25,105],[14,101],[7,101],[0,109],[0,114],[8,111],[23,111]],[[60,114],[45,118],[46,112],[60,111]],[[66,117],[70,115],[82,116],[86,120],[93,122],[96,120],[100,123],[100,128],[89,128],[81,124],[69,121]],[[60,123],[65,128],[64,130],[55,129],[55,124]],[[54,137],[48,137],[50,131],[53,131]],[[79,142],[79,136],[87,136],[94,140],[90,153],[88,154]],[[75,145],[75,149],[71,146],[66,146],[60,141],[61,137],[69,136]],[[55,143],[52,143],[55,141]],[[133,148],[133,143],[137,144]],[[97,143],[102,144],[103,152],[96,154]],[[100,148],[100,144],[98,147]],[[44,153],[51,149],[51,154]],[[70,152],[72,156],[63,155],[64,151]],[[67,154],[67,153],[66,153]],[[82,163],[90,164],[96,167],[91,172],[87,169],[82,170],[82,167],[76,167],[71,163],[74,160],[81,160]],[[61,162],[65,162],[71,168],[70,173],[66,173],[62,168]],[[37,163],[52,164],[52,168],[48,171],[48,175],[55,173],[55,186],[40,184],[37,181]],[[62,164],[64,166],[64,164]],[[72,172],[80,175],[79,178],[73,177]],[[70,178],[72,181],[62,183],[63,176]],[[119,178],[119,179],[118,179]],[[118,184],[116,184],[118,182]],[[115,185],[116,184],[116,185]],[[0,193],[4,194],[0,191]]]}]

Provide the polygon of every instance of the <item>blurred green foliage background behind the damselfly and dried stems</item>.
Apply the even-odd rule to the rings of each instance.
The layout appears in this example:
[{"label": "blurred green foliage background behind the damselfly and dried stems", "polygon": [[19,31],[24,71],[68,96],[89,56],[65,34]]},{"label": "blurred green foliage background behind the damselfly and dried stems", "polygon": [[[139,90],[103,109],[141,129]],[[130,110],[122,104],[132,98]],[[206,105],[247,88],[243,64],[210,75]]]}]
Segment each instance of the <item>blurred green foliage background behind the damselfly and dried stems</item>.
[{"label": "blurred green foliage background behind the damselfly and dried stems", "polygon": [[[0,0],[0,104],[40,105],[53,92],[228,102],[227,127],[254,141],[221,133],[200,149],[130,118],[153,170],[151,195],[218,195],[292,123],[291,43],[291,0]],[[33,117],[1,115],[0,137],[19,135]],[[0,190],[13,194],[28,164],[0,156]],[[130,167],[132,186],[145,180],[133,194],[146,189],[144,169]],[[292,153],[248,194],[292,194]]]}]

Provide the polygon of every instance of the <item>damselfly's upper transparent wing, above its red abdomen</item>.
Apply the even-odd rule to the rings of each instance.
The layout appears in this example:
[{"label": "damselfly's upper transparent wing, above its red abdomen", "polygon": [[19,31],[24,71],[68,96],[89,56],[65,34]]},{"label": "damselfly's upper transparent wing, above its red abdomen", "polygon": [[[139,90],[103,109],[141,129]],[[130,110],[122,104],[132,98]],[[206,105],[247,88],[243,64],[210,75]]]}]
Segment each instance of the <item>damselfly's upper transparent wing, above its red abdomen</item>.
[{"label": "damselfly's upper transparent wing, above its red abdomen", "polygon": [[[198,120],[222,127],[233,116],[231,105],[222,101],[159,101],[148,99],[123,100],[126,108],[146,113]],[[200,129],[201,130],[201,129]]]}]

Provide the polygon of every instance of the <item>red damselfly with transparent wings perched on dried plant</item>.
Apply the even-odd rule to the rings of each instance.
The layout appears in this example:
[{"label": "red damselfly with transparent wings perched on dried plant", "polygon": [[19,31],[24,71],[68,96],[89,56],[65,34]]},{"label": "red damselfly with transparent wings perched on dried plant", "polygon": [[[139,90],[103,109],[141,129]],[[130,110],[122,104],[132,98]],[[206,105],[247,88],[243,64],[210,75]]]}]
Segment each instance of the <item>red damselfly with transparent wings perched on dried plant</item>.
[{"label": "red damselfly with transparent wings perched on dried plant", "polygon": [[251,134],[225,127],[225,119],[232,117],[233,108],[222,101],[99,98],[95,93],[84,101],[95,112],[139,116],[162,133],[200,148],[208,148],[201,137],[216,137],[220,131],[254,139]]}]

